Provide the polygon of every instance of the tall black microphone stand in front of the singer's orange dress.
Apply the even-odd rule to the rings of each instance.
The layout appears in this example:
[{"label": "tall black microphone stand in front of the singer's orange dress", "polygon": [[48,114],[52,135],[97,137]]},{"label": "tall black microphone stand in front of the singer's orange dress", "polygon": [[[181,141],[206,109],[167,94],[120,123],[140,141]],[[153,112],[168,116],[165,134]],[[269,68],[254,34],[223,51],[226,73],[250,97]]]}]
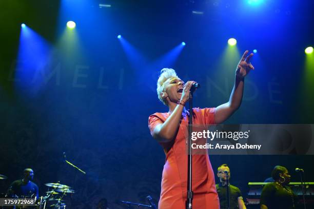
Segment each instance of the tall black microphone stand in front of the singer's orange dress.
[{"label": "tall black microphone stand in front of the singer's orange dress", "polygon": [[188,172],[187,172],[187,199],[185,202],[186,209],[192,209],[192,200],[193,200],[193,191],[192,191],[192,124],[193,124],[193,106],[192,106],[193,92],[190,91],[189,96],[189,105],[190,105],[190,114],[189,114],[189,138],[187,141],[188,148]]}]

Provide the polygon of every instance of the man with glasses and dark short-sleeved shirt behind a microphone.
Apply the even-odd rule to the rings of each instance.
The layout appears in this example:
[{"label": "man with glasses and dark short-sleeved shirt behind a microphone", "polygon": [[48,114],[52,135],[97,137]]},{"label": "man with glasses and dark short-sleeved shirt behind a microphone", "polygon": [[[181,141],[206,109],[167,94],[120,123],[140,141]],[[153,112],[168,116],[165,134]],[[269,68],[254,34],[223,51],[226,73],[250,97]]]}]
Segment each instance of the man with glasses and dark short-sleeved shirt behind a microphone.
[{"label": "man with glasses and dark short-sleeved shirt behind a microphone", "polygon": [[[218,167],[217,176],[220,183],[216,184],[216,189],[219,196],[220,208],[228,209],[228,199],[227,199],[227,175],[228,181],[230,180],[230,169],[227,164],[222,164]],[[243,201],[243,197],[240,189],[237,186],[233,186],[229,183],[229,208],[240,208],[246,209]]]}]

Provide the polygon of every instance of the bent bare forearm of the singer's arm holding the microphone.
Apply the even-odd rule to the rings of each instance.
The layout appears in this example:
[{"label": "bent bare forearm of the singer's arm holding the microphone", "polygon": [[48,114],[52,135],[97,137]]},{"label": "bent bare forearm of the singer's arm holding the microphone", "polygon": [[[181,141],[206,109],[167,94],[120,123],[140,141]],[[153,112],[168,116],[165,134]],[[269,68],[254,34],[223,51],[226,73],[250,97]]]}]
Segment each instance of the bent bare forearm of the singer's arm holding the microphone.
[{"label": "bent bare forearm of the singer's arm holding the microphone", "polygon": [[177,105],[166,121],[155,127],[153,131],[154,139],[159,142],[169,142],[175,138],[180,125],[183,108],[182,105]]}]

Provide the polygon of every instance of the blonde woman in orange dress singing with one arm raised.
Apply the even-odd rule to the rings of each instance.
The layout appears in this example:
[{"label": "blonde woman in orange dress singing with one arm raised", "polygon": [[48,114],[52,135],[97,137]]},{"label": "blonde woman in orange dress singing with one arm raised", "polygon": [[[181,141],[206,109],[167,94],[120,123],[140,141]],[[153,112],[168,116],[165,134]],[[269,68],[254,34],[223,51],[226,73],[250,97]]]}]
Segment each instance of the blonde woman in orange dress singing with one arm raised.
[{"label": "blonde woman in orange dress singing with one arm raised", "polygon": [[[193,108],[193,124],[210,126],[230,117],[241,104],[244,77],[254,69],[249,60],[253,54],[246,51],[235,71],[235,83],[229,101],[217,108]],[[195,81],[183,82],[173,69],[163,69],[157,82],[158,98],[169,108],[167,113],[149,116],[150,133],[166,154],[162,175],[159,208],[185,208],[187,198],[187,125],[189,111],[185,103]],[[192,160],[193,208],[219,208],[214,174],[208,155],[193,155]]]}]

